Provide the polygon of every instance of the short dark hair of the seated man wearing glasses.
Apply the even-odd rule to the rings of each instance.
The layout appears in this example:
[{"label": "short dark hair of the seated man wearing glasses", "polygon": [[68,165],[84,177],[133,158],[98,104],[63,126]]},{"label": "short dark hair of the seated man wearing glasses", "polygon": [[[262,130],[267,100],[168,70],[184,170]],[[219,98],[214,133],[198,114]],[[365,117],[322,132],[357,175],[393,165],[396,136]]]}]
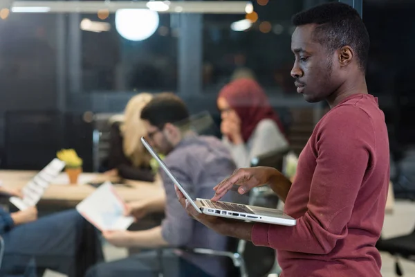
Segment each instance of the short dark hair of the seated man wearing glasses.
[{"label": "short dark hair of the seated man wearing glasses", "polygon": [[189,118],[185,102],[174,93],[160,93],[151,99],[141,111],[141,119],[163,129],[166,123],[180,123]]}]

